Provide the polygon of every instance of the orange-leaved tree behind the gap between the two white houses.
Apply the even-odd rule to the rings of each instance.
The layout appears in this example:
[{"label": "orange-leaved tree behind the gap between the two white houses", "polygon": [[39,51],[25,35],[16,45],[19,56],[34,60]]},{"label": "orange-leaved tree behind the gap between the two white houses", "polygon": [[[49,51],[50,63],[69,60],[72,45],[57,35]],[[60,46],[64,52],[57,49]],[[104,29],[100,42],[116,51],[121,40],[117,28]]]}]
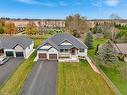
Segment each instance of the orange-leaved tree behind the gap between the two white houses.
[{"label": "orange-leaved tree behind the gap between the two white houses", "polygon": [[26,29],[25,29],[27,34],[36,34],[37,33],[37,26],[34,22],[30,21],[27,25],[26,25]]}]

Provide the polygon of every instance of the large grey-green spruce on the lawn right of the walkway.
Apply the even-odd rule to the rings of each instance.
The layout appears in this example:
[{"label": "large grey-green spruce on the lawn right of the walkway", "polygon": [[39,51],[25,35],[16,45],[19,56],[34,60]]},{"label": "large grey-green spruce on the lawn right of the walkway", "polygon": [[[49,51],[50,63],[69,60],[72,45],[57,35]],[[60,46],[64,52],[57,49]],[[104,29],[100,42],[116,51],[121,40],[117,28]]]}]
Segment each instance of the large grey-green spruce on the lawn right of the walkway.
[{"label": "large grey-green spruce on the lawn right of the walkway", "polygon": [[118,62],[116,51],[113,43],[108,40],[105,44],[99,47],[97,58],[100,63],[115,63]]}]

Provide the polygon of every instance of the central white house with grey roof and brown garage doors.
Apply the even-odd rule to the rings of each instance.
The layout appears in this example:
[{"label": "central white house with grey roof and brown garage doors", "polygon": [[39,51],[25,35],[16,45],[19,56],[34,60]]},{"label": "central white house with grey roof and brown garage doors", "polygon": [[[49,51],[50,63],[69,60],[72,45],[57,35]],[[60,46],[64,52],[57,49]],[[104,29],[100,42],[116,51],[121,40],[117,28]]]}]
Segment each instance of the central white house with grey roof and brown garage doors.
[{"label": "central white house with grey roof and brown garage doors", "polygon": [[79,39],[70,34],[57,34],[37,49],[37,59],[58,60],[58,61],[78,61],[79,57],[87,56],[88,47]]}]

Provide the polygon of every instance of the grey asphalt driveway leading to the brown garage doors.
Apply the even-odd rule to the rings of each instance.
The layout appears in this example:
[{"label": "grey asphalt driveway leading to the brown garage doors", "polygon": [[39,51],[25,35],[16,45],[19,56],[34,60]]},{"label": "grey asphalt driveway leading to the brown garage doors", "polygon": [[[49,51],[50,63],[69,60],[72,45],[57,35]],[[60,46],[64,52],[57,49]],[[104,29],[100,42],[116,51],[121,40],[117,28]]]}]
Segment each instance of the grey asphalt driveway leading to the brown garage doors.
[{"label": "grey asphalt driveway leading to the brown garage doors", "polygon": [[56,95],[57,61],[35,64],[20,95]]}]

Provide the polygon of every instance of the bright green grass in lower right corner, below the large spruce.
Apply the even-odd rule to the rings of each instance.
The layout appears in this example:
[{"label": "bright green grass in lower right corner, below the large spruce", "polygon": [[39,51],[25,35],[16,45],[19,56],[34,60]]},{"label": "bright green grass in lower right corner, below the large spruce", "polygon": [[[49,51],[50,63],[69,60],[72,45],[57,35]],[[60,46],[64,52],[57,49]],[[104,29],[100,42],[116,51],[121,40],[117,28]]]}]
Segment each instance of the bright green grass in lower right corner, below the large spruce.
[{"label": "bright green grass in lower right corner, below the large spruce", "polygon": [[101,66],[101,69],[109,77],[109,79],[116,85],[122,95],[127,95],[127,79],[123,79],[120,68],[127,66],[127,63],[120,62],[110,67]]}]

